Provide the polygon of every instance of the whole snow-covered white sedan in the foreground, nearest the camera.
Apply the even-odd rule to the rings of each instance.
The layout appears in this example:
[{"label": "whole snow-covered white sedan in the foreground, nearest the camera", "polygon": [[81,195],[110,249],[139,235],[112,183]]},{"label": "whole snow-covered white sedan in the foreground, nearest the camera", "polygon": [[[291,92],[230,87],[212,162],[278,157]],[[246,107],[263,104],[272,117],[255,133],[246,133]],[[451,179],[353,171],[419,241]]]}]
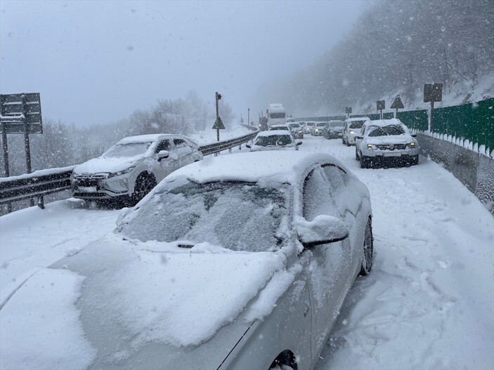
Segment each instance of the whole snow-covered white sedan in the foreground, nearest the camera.
[{"label": "whole snow-covered white sedan in the foreground, nearest the camera", "polygon": [[124,209],[115,232],[32,272],[3,303],[2,341],[16,349],[4,363],[312,369],[354,279],[371,270],[372,213],[367,187],[337,159],[299,154],[178,169]]}]

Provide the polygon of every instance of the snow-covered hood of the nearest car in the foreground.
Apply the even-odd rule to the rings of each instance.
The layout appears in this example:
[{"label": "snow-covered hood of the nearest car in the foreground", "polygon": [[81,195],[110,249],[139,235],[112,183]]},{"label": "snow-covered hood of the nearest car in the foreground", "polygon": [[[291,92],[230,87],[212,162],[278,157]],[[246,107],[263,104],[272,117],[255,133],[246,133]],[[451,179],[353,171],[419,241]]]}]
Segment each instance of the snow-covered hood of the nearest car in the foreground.
[{"label": "snow-covered hood of the nearest car in the foreground", "polygon": [[[111,234],[32,275],[4,305],[3,335],[22,343],[12,363],[34,353],[32,368],[216,369],[271,312],[256,315],[252,303],[284,273],[279,252],[183,249]],[[25,299],[32,294],[39,298]]]}]

